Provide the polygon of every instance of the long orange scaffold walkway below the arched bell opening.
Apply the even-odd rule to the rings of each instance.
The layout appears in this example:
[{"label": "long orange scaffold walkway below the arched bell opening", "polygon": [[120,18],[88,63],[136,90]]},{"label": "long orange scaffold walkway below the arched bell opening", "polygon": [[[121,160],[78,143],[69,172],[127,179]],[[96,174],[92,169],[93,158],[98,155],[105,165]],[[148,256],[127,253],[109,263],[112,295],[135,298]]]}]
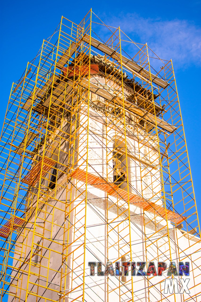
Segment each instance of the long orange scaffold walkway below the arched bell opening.
[{"label": "long orange scaffold walkway below the arched bell opening", "polygon": [[[86,182],[86,172],[82,169],[76,169],[71,175],[72,178],[76,178],[78,181]],[[152,201],[146,201],[141,196],[129,193],[120,189],[118,186],[114,184],[109,184],[104,178],[97,177],[91,173],[87,173],[87,183],[88,185],[92,185],[102,191],[107,192],[109,195],[117,198],[121,198],[125,200],[126,202],[135,204],[137,207],[142,208],[144,211],[148,211],[152,214],[155,214],[156,216],[166,217],[165,215],[165,208],[155,204]],[[167,212],[167,218],[168,220],[171,220],[173,223],[180,223],[181,221],[185,220],[186,217],[181,216],[180,214],[177,214],[171,210],[166,210]]]}]

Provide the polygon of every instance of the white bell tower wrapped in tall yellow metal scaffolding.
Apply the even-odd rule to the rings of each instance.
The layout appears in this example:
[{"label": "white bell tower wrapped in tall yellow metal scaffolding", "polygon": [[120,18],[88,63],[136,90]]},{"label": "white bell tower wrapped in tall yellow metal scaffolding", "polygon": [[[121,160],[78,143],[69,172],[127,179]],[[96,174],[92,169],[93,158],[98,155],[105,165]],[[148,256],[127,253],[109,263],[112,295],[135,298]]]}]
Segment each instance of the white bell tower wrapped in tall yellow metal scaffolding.
[{"label": "white bell tower wrapped in tall yellow metal scaffolding", "polygon": [[[171,60],[91,10],[78,25],[62,17],[12,85],[1,142],[1,302],[201,301]],[[164,275],[94,279],[90,257],[102,269],[190,261],[190,294],[165,295]]]}]

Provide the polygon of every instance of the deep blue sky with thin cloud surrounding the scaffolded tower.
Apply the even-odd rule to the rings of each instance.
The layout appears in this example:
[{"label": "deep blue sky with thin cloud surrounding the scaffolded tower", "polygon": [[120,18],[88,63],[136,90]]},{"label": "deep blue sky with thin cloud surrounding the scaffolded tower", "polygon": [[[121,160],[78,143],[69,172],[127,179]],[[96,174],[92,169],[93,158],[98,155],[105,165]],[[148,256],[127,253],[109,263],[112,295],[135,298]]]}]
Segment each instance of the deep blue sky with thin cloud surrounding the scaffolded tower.
[{"label": "deep blue sky with thin cloud surrounding the scaffolded tower", "polygon": [[138,43],[148,43],[162,59],[172,59],[189,151],[193,184],[200,203],[201,1],[4,1],[1,4],[1,119],[12,82],[24,72],[61,16],[79,23],[92,7],[106,24]]}]

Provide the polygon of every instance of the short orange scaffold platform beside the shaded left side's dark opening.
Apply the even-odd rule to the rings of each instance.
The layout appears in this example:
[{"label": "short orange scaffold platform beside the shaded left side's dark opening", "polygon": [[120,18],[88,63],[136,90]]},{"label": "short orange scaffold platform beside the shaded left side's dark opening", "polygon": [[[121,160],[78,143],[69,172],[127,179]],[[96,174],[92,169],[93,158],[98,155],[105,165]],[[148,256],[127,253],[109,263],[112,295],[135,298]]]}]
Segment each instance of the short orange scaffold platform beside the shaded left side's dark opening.
[{"label": "short orange scaffold platform beside the shaded left side's dark opening", "polygon": [[[45,174],[55,165],[55,161],[50,158],[44,157],[43,159],[43,169],[41,177],[45,176]],[[40,179],[40,170],[42,167],[42,159],[37,162],[37,164],[27,173],[27,175],[21,180],[27,185],[35,186]]]}]

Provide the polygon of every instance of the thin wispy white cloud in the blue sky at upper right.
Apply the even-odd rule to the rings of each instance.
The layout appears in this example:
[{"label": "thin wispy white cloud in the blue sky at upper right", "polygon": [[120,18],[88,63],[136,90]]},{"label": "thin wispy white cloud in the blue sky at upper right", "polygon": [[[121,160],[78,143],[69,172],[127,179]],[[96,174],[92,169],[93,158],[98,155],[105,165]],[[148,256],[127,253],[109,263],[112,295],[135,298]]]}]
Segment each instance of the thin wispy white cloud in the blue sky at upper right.
[{"label": "thin wispy white cloud in the blue sky at upper right", "polygon": [[[108,18],[107,18],[108,20]],[[172,59],[177,68],[201,66],[201,28],[187,20],[145,19],[138,14],[111,18],[135,42],[146,43],[162,59]]]}]

